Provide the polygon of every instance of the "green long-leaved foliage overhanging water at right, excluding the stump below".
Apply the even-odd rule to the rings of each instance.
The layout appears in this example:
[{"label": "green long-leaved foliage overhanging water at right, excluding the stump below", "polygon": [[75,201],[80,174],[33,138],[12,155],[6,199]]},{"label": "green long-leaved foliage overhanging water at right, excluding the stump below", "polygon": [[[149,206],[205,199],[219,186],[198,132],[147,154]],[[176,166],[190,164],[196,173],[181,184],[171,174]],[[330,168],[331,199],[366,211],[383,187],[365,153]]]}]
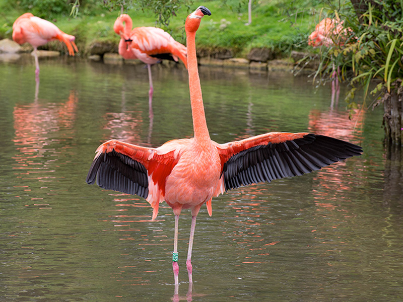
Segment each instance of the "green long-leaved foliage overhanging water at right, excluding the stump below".
[{"label": "green long-leaved foliage overhanging water at right, excluding the stump below", "polygon": [[[345,20],[344,26],[354,32],[355,38],[344,45],[321,47],[322,68],[318,74],[323,79],[323,75],[332,72],[334,65],[340,66],[341,78],[353,87],[361,86],[366,98],[368,94],[390,92],[400,86],[401,82],[396,80],[403,77],[403,1],[364,0],[363,3],[366,6],[362,12],[357,12],[350,2],[338,10],[330,7],[330,17],[338,15]],[[372,80],[379,84],[371,90]],[[353,98],[354,91],[347,97],[349,106],[355,106]]]}]

